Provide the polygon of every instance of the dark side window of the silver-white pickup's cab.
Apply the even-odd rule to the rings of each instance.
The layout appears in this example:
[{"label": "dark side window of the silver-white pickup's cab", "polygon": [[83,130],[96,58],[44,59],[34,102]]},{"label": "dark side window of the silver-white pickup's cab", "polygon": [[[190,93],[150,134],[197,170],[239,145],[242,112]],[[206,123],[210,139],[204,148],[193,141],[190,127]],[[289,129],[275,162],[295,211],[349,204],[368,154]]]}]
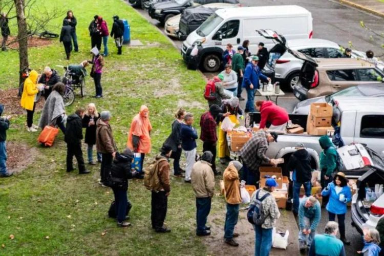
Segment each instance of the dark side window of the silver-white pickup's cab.
[{"label": "dark side window of the silver-white pickup's cab", "polygon": [[360,137],[384,138],[384,115],[363,116]]}]

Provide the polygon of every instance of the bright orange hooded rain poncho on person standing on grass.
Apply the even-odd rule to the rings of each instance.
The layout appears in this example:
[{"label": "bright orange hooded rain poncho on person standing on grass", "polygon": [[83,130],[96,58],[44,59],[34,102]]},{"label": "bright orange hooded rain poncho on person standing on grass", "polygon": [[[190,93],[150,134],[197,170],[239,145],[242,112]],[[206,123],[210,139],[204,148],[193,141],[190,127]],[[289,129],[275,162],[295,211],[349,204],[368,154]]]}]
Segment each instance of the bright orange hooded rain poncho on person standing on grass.
[{"label": "bright orange hooded rain poncho on person standing on grass", "polygon": [[150,132],[152,130],[152,125],[149,116],[144,116],[143,112],[145,110],[147,111],[148,108],[145,105],[142,105],[139,114],[133,118],[126,146],[133,150],[132,136],[135,135],[140,138],[136,152],[147,154],[151,152]]}]

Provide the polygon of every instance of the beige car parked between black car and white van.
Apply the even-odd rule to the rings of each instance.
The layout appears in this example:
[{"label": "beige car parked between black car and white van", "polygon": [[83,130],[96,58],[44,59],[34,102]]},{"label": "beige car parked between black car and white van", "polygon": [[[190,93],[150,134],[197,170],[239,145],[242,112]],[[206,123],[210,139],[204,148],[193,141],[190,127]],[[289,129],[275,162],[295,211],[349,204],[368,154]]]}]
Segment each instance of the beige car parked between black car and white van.
[{"label": "beige car parked between black car and white van", "polygon": [[[207,19],[212,13],[214,13],[217,9],[221,9],[221,8],[233,8],[233,7],[240,7],[241,5],[240,4],[227,4],[227,3],[213,3],[213,4],[206,4],[206,5],[202,5],[202,6],[198,6],[196,8],[193,8],[193,9],[197,9],[197,8],[210,8],[210,10],[212,10],[210,12],[210,14],[204,18]],[[183,11],[183,13],[187,10],[189,10],[190,8],[187,8]],[[205,16],[204,16],[205,17]],[[167,22],[165,23],[164,25],[164,33],[169,36],[169,37],[174,37],[174,38],[177,38],[177,39],[182,39],[184,40],[185,38],[183,37],[180,37],[179,35],[179,24],[180,24],[180,18],[181,18],[181,14],[178,14],[176,16],[173,16],[172,18],[169,18],[167,20]],[[201,17],[200,17],[201,18]],[[197,20],[195,19],[194,20],[194,26],[199,27],[203,22],[204,20]],[[197,24],[199,24],[197,26]]]}]

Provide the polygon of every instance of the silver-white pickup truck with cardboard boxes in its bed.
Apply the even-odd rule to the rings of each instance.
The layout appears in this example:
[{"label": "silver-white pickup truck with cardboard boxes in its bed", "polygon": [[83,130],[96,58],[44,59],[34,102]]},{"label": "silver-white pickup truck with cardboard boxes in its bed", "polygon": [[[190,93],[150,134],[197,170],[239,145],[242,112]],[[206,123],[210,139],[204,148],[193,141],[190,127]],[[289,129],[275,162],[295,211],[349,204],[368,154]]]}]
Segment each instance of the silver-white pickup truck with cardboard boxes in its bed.
[{"label": "silver-white pickup truck with cardboard boxes in its bed", "polygon": [[[341,118],[340,134],[344,143],[360,143],[379,155],[384,154],[384,101],[374,97],[336,97],[333,103],[336,104],[334,114]],[[258,122],[260,114],[255,113],[252,118],[251,122]],[[306,126],[307,115],[290,115],[290,118],[293,123]],[[305,134],[279,135],[278,143],[269,144],[266,155],[270,158],[284,158],[287,163],[290,155],[295,152],[296,143],[302,142],[312,156],[312,168],[319,169],[318,156],[322,151],[318,143],[320,137]]]}]

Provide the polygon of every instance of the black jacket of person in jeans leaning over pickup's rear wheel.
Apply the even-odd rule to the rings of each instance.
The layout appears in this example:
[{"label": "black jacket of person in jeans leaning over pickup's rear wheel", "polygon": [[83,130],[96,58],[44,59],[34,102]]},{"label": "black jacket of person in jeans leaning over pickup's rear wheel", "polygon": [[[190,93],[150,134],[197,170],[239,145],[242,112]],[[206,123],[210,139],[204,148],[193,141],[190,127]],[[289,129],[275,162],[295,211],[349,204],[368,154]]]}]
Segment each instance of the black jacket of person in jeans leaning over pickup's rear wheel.
[{"label": "black jacket of person in jeans leaning over pickup's rear wheel", "polygon": [[311,156],[305,149],[297,150],[291,155],[288,170],[296,170],[296,181],[307,182],[312,178]]}]

